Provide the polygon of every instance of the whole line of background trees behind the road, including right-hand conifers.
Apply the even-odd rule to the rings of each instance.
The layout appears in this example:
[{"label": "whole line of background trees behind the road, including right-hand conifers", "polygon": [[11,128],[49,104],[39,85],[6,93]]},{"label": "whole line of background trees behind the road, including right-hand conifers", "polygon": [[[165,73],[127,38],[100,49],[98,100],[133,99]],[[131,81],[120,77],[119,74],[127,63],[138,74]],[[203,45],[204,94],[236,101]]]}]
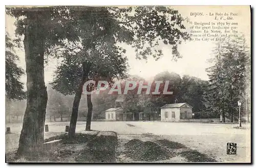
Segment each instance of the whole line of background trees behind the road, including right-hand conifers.
[{"label": "whole line of background trees behind the road, including right-hand conifers", "polygon": [[[6,80],[10,80],[10,50],[11,48],[8,47],[13,45],[10,43],[10,38],[7,34],[7,58],[6,58],[6,66],[7,66],[7,77]],[[248,54],[246,55],[246,46],[245,41],[243,38],[236,39],[230,41],[232,44],[234,42],[238,43],[237,45],[232,46],[239,46],[241,47],[240,53],[237,55],[230,54],[228,52],[235,52],[234,50],[238,50],[239,48],[228,48],[227,41],[226,43],[218,43],[218,46],[215,49],[216,59],[211,61],[216,61],[214,66],[211,66],[207,69],[209,76],[210,76],[210,83],[206,81],[202,81],[195,77],[190,76],[183,76],[181,78],[178,74],[175,73],[168,73],[168,71],[162,72],[155,76],[154,80],[162,80],[162,81],[171,81],[169,84],[169,88],[171,91],[174,92],[172,95],[138,95],[137,90],[130,90],[129,94],[124,95],[124,111],[133,111],[133,112],[140,112],[143,110],[159,110],[159,107],[163,106],[164,104],[168,103],[180,103],[180,102],[187,102],[194,107],[193,111],[200,115],[200,117],[206,117],[205,115],[216,117],[220,113],[225,111],[225,114],[230,115],[231,122],[233,122],[233,116],[238,116],[238,107],[237,101],[238,100],[246,100],[245,98],[245,66],[246,59],[248,59]],[[222,49],[221,49],[222,47]],[[225,50],[225,48],[229,50]],[[226,53],[224,53],[226,52]],[[237,52],[237,51],[236,51]],[[15,66],[17,67],[17,65]],[[18,67],[17,67],[18,68]],[[15,70],[14,70],[15,71]],[[19,68],[19,71],[22,71]],[[221,73],[220,73],[221,71]],[[22,74],[20,74],[22,75]],[[19,75],[19,76],[20,76]],[[225,76],[225,78],[221,78],[221,76]],[[217,78],[218,77],[218,78]],[[229,78],[228,78],[229,77]],[[233,77],[233,78],[230,78]],[[145,81],[143,78],[138,76],[132,76],[127,78],[126,80],[133,80],[133,81]],[[241,82],[242,81],[242,82]],[[71,82],[72,83],[72,82]],[[9,83],[6,82],[7,90],[10,89],[10,86],[15,86],[14,84],[8,85]],[[20,83],[17,83],[19,86]],[[64,85],[67,86],[67,85]],[[64,87],[62,86],[62,87]],[[207,86],[207,87],[206,87]],[[219,87],[217,87],[219,86]],[[221,87],[223,86],[223,87]],[[68,85],[70,89],[72,87]],[[122,88],[125,87],[125,81],[122,85]],[[138,86],[137,86],[138,88]],[[206,89],[207,88],[207,89]],[[73,88],[75,89],[75,88]],[[152,89],[154,89],[152,87]],[[23,92],[23,87],[19,88],[19,92]],[[160,89],[161,90],[161,89]],[[11,93],[11,92],[10,92]],[[11,95],[11,94],[7,95]],[[204,94],[203,94],[204,93]],[[17,94],[17,100],[20,100],[20,95]],[[14,98],[14,95],[12,95]],[[117,95],[109,95],[108,90],[101,91],[100,94],[93,94],[92,95],[92,103],[94,106],[94,113],[99,114],[100,112],[108,109],[110,107],[114,107],[115,100]],[[10,98],[7,98],[7,111],[12,111],[13,116],[22,116],[24,115],[23,108],[26,107],[24,101],[15,101],[13,102]],[[216,101],[216,100],[219,100]],[[50,116],[50,121],[55,121],[55,117],[60,117],[60,121],[62,121],[62,116],[70,116],[70,111],[72,107],[73,97],[72,95],[63,95],[60,92],[57,92],[52,89],[52,87],[48,86],[48,106],[47,106],[47,114]],[[246,101],[244,101],[246,102]],[[244,106],[245,107],[245,106]],[[9,110],[8,110],[9,109]],[[86,116],[87,113],[87,104],[86,99],[82,97],[81,105],[80,105],[79,114],[82,116]],[[205,113],[205,114],[204,114]],[[208,114],[206,114],[208,113]],[[225,114],[223,114],[225,116]],[[53,117],[53,118],[52,118]]]}]

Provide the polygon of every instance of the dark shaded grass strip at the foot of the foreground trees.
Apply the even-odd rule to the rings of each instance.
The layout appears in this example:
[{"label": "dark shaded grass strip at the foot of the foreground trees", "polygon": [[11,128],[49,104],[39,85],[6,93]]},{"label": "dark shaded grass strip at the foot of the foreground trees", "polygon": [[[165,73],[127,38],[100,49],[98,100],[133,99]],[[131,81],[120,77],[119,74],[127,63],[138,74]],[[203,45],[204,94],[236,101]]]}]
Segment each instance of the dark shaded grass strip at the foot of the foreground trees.
[{"label": "dark shaded grass strip at the foot of the foreground trees", "polygon": [[16,158],[15,152],[6,154],[7,162],[116,162],[115,147],[117,137],[113,135],[77,133],[73,140],[68,134],[46,139],[49,142],[62,139],[60,143],[45,149],[38,156]]}]

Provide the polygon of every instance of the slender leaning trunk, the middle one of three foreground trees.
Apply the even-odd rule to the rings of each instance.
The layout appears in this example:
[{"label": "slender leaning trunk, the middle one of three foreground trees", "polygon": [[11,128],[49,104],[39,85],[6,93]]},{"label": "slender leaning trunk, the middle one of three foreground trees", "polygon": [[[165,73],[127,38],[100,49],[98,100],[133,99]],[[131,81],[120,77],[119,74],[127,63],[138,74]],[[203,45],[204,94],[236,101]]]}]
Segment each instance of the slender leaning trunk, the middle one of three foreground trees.
[{"label": "slender leaning trunk, the middle one of three foreground trees", "polygon": [[83,63],[83,76],[76,90],[75,99],[73,102],[72,114],[70,118],[70,126],[69,126],[70,138],[74,138],[75,136],[79,103],[82,96],[83,85],[84,83],[86,83],[86,81],[88,81],[88,74],[89,74],[90,68],[91,68],[91,64],[89,64],[88,62]]}]

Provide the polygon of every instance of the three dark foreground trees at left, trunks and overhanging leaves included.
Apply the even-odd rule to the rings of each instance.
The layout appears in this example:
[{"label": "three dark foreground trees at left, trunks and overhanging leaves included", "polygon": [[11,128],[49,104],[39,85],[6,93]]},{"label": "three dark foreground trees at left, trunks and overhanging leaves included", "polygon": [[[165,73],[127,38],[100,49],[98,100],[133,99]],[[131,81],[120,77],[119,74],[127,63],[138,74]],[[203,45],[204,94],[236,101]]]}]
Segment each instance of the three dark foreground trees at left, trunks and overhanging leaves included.
[{"label": "three dark foreground trees at left, trunks and overhanging leaves included", "polygon": [[[24,47],[26,58],[27,106],[19,156],[36,155],[42,150],[48,102],[44,64],[49,56],[63,60],[53,88],[65,94],[75,93],[69,130],[69,137],[73,138],[83,84],[90,79],[112,83],[114,78],[125,77],[125,51],[118,43],[133,46],[138,59],[158,59],[162,55],[159,43],[168,44],[172,57],[178,59],[178,44],[189,39],[184,18],[166,7],[8,8],[7,14],[17,20],[15,34],[23,41],[20,46]],[[89,94],[87,104],[86,130],[90,130],[93,105]]]}]

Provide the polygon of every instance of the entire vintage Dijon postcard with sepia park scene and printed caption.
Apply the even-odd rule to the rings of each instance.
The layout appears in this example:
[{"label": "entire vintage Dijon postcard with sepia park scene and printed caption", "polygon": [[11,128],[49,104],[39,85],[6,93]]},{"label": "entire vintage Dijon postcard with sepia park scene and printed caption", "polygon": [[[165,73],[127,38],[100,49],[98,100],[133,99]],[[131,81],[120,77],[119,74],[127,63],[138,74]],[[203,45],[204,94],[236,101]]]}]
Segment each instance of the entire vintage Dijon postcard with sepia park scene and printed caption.
[{"label": "entire vintage Dijon postcard with sepia park scene and printed caption", "polygon": [[6,162],[251,163],[250,6],[6,6]]}]

